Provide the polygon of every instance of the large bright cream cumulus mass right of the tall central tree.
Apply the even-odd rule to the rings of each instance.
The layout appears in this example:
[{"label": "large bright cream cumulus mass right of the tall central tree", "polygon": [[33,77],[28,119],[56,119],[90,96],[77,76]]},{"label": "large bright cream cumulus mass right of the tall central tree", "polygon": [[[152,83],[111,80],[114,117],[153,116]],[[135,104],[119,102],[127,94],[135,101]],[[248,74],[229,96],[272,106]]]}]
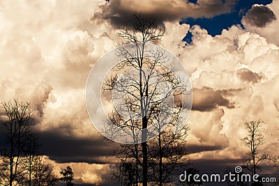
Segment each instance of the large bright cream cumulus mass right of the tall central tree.
[{"label": "large bright cream cumulus mass right of the tall central tree", "polygon": [[[190,31],[193,32],[193,45],[182,49],[176,47],[176,54],[180,54],[179,59],[190,71],[193,80],[193,109],[200,103],[202,108],[211,111],[209,114],[195,110],[191,113],[188,141],[212,147],[190,157],[241,158],[246,152],[240,141],[246,134],[243,123],[258,118],[265,121],[265,146],[269,146],[273,135],[278,135],[278,127],[273,121],[278,112],[278,104],[274,104],[277,102],[274,88],[278,84],[278,47],[236,26],[216,37],[209,36],[199,26]],[[229,89],[237,91],[227,91],[232,93],[229,96],[217,93],[217,90]],[[268,93],[266,90],[274,91]],[[223,109],[220,110],[220,104],[229,102],[234,107],[221,107]],[[205,107],[206,103],[210,103],[210,107]],[[276,143],[276,146],[279,144]],[[274,150],[269,148],[268,151],[272,153]]]}]

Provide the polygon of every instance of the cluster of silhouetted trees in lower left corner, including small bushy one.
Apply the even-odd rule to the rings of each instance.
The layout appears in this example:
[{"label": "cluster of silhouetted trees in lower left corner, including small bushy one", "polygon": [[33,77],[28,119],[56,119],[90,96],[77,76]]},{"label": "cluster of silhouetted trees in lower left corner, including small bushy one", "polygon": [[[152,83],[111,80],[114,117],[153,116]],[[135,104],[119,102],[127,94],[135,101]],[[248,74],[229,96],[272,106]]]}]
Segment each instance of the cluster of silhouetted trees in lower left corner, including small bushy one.
[{"label": "cluster of silhouetted trees in lower left corner, including small bushy one", "polygon": [[52,167],[39,154],[36,130],[31,126],[33,112],[29,102],[13,100],[1,102],[4,111],[1,121],[2,147],[0,157],[0,185],[52,186],[66,183],[72,186],[74,178],[70,166],[61,170],[61,178],[52,173]]}]

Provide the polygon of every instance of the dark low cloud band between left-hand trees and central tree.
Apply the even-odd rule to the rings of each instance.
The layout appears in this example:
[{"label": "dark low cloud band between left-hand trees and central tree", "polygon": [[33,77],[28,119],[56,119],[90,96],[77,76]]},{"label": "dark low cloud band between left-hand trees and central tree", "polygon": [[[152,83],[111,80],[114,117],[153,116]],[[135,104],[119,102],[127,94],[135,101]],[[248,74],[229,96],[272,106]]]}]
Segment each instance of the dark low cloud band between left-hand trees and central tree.
[{"label": "dark low cloud band between left-hand trees and central tree", "polygon": [[80,138],[65,135],[61,129],[39,133],[41,155],[47,155],[56,162],[87,162],[105,164],[100,157],[112,155],[117,144],[104,141],[99,134],[96,137]]}]

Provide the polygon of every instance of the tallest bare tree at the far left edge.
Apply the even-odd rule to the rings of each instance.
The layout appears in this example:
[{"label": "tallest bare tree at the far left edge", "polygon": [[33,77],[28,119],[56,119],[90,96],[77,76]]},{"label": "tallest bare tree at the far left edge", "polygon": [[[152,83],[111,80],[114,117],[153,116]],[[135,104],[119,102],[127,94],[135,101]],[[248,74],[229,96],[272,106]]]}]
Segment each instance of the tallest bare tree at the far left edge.
[{"label": "tallest bare tree at the far left edge", "polygon": [[8,179],[8,185],[20,185],[26,173],[22,169],[24,139],[29,133],[29,121],[33,114],[29,109],[29,102],[14,100],[2,102],[2,106],[7,117],[6,121],[2,123],[6,129],[7,144],[2,156],[2,166],[6,167],[3,176]]}]

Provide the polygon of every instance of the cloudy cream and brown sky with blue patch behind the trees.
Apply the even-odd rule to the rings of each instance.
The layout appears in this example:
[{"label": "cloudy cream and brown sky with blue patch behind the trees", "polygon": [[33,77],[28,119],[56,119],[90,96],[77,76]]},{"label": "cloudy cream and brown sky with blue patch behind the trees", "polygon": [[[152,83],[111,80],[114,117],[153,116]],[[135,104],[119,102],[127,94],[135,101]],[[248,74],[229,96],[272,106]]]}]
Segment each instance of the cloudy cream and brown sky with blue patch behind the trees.
[{"label": "cloudy cream and brown sky with blue patch behind the trees", "polygon": [[[0,100],[31,102],[40,153],[54,172],[70,165],[77,185],[112,185],[116,144],[89,120],[85,87],[133,13],[165,26],[158,45],[189,74],[193,166],[223,173],[241,164],[243,123],[257,119],[264,122],[260,151],[279,155],[278,0],[1,1]],[[269,173],[271,166],[263,165]]]}]

